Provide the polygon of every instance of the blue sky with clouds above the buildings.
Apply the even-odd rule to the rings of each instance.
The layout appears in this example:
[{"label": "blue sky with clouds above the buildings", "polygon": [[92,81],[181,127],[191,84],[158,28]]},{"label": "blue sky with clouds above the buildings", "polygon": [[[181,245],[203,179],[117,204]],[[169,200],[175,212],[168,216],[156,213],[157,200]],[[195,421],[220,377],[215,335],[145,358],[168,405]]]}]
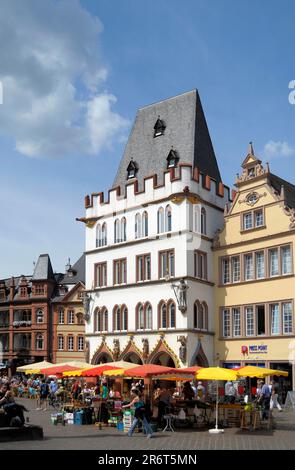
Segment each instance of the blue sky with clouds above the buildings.
[{"label": "blue sky with clouds above the buildings", "polygon": [[[253,141],[295,184],[292,0],[1,0],[0,278],[84,250],[138,108],[197,88],[225,184]],[[289,99],[290,95],[290,99]]]}]

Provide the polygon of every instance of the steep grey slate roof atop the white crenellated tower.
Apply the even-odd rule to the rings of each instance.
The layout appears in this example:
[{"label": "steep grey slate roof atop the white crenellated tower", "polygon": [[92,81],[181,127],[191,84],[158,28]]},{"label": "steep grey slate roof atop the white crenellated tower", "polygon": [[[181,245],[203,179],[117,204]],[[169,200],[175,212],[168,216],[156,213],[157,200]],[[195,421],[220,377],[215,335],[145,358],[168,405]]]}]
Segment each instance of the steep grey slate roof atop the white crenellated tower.
[{"label": "steep grey slate roof atop the white crenellated tower", "polygon": [[[159,116],[166,128],[163,135],[154,137],[154,126]],[[131,160],[138,165],[140,189],[146,176],[158,174],[161,183],[172,146],[178,152],[179,163],[190,163],[203,174],[221,181],[197,90],[138,110],[113,187],[123,187],[127,182],[126,170]]]}]

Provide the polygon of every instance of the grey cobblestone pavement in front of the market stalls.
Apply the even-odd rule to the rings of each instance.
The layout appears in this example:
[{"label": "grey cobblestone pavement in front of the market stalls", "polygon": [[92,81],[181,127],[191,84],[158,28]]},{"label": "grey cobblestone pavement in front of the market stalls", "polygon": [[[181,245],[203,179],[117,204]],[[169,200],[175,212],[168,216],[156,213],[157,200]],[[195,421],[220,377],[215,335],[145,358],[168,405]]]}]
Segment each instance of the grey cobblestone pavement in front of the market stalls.
[{"label": "grey cobblestone pavement in front of the market stalls", "polygon": [[207,429],[157,432],[152,439],[141,433],[131,438],[116,428],[94,425],[54,426],[50,411],[36,411],[35,402],[22,399],[30,411],[30,424],[43,427],[43,441],[1,442],[2,450],[295,450],[295,411],[274,411],[273,430],[241,431],[227,428],[223,434],[211,435]]}]

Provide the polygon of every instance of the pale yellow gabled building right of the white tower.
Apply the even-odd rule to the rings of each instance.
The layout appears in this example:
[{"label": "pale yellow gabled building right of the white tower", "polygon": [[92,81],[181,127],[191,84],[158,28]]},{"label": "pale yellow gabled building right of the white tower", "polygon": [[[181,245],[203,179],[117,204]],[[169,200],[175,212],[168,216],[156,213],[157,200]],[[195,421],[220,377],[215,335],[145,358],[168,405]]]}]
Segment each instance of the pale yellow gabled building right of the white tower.
[{"label": "pale yellow gabled building right of the white tower", "polygon": [[295,186],[270,172],[252,144],[215,237],[215,360],[287,370],[295,390]]}]

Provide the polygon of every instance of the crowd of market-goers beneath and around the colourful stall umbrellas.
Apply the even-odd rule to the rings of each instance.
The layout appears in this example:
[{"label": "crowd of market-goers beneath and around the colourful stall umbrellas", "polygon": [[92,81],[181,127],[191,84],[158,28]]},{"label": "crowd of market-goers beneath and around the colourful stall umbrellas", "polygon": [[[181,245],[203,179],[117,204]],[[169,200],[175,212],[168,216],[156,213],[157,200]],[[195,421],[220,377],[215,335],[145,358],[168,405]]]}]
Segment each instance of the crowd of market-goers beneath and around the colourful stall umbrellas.
[{"label": "crowd of market-goers beneath and around the colourful stall umbrellas", "polygon": [[[143,381],[129,383],[129,397],[124,393],[121,394],[114,385],[114,381],[110,379],[107,381],[105,378],[97,378],[96,383],[90,383],[80,379],[44,378],[38,375],[27,377],[24,374],[18,374],[10,378],[3,375],[0,377],[0,407],[14,403],[14,397],[35,399],[36,410],[40,411],[46,411],[48,406],[54,405],[58,400],[61,403],[79,401],[91,405],[92,401],[98,398],[104,401],[117,399],[122,401],[123,410],[126,408],[135,410],[135,419],[129,435],[132,436],[136,426],[142,423],[147,436],[151,437],[152,413]],[[253,395],[253,389],[247,392],[246,387],[238,382],[227,381],[224,385],[224,398],[220,401],[226,404],[247,402],[247,395],[249,395],[250,401],[254,401],[261,409],[262,419],[265,420],[268,419],[269,410],[278,408],[282,411],[279,403],[280,392],[280,385],[274,380],[270,384],[257,380],[255,395]],[[176,403],[182,400],[206,405],[214,402],[215,392],[213,393],[207,382],[205,387],[201,381],[186,381],[178,386],[175,386],[174,382],[154,382],[153,404],[156,405],[157,412],[157,416],[154,417],[159,428],[165,424],[165,415],[171,413]]]}]

